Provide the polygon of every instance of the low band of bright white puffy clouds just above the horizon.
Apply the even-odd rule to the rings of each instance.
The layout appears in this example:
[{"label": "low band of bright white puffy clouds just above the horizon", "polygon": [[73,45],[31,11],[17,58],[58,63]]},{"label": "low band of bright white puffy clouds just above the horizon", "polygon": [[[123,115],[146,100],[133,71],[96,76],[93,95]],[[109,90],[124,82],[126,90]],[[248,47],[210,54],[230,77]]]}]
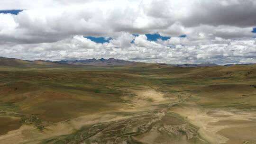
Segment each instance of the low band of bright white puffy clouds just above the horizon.
[{"label": "low band of bright white puffy clouds just above the horizon", "polygon": [[[127,37],[128,38],[127,38]],[[255,63],[256,39],[239,39],[229,44],[176,45],[168,47],[161,41],[148,41],[145,35],[135,37],[123,34],[110,43],[95,43],[83,36],[73,36],[55,43],[5,45],[1,56],[21,59],[88,59],[119,58],[125,60],[155,63]],[[170,42],[180,43],[186,38],[170,38]],[[116,45],[122,47],[116,47]],[[21,54],[22,53],[22,54]]]}]

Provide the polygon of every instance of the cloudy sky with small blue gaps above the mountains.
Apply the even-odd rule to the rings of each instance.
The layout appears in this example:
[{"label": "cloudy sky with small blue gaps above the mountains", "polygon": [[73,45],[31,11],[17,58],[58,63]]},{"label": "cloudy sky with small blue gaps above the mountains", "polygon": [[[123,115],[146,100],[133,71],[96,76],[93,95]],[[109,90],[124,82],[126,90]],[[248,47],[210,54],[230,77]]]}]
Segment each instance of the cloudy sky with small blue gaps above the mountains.
[{"label": "cloudy sky with small blue gaps above the mountains", "polygon": [[0,56],[256,63],[256,0],[0,0]]}]

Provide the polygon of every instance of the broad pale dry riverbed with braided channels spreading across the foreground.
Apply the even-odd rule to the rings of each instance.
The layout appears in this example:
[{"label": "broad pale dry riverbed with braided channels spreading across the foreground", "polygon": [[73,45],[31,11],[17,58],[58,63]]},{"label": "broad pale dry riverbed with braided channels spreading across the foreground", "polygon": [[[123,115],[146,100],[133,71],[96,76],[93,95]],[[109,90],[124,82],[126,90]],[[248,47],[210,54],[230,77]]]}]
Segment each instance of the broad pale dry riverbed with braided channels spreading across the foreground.
[{"label": "broad pale dry riverbed with braided channels spreading across the foreground", "polygon": [[185,92],[172,95],[150,87],[127,90],[111,111],[61,122],[21,126],[5,118],[1,144],[254,144],[256,113],[236,108],[202,108]]}]

